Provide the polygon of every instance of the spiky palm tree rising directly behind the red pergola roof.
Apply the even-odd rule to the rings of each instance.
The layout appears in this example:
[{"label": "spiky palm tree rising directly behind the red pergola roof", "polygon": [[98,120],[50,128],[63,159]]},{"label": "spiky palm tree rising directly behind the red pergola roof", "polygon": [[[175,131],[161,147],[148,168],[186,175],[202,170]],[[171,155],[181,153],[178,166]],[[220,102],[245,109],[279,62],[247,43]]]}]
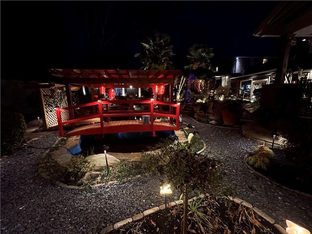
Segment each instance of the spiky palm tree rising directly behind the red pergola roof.
[{"label": "spiky palm tree rising directly behind the red pergola roof", "polygon": [[135,54],[139,58],[143,67],[147,70],[166,70],[173,69],[170,60],[175,54],[173,46],[170,45],[170,37],[167,34],[155,32],[152,37],[147,37],[147,41],[141,42],[143,50],[141,53]]}]

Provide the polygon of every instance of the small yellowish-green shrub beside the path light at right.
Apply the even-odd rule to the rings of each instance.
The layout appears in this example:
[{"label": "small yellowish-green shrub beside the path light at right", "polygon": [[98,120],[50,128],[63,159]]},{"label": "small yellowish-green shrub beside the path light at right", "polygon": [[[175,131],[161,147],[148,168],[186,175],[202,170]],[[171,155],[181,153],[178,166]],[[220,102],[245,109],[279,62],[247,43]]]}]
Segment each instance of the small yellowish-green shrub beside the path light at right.
[{"label": "small yellowish-green shrub beside the path light at right", "polygon": [[274,157],[274,153],[265,145],[258,145],[254,148],[251,156],[247,158],[247,163],[255,168],[267,170],[270,160]]}]

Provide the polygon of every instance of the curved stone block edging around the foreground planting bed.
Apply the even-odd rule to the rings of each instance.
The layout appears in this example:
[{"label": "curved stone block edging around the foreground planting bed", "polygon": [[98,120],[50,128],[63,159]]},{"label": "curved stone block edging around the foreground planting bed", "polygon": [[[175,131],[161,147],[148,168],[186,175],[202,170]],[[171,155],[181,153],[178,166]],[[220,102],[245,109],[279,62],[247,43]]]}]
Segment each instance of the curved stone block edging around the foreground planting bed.
[{"label": "curved stone block edging around the foreground planting bed", "polygon": [[[195,197],[189,199],[188,201],[192,202],[193,200],[196,200],[198,197],[204,197],[204,196],[205,196],[204,194],[201,194],[199,196],[195,196]],[[253,209],[253,211],[257,215],[259,215],[260,217],[262,217],[263,219],[265,219],[269,223],[271,223],[279,231],[280,234],[287,234],[286,230],[282,226],[280,226],[279,224],[275,223],[273,218],[271,218],[269,215],[266,215],[264,212],[262,212],[257,207],[253,207],[253,205],[250,204],[249,202],[246,202],[246,201],[244,201],[244,200],[242,200],[242,199],[240,199],[238,197],[234,197],[234,198],[232,196],[224,196],[224,197],[228,198],[231,201],[234,201],[237,204],[242,204],[245,207],[249,207],[249,208]],[[168,207],[172,207],[172,206],[175,206],[175,205],[178,205],[178,204],[183,204],[183,203],[184,203],[183,200],[176,200],[176,201],[168,203]],[[151,208],[149,210],[144,211],[143,213],[139,213],[139,214],[134,215],[134,216],[132,216],[130,218],[126,218],[124,220],[121,220],[121,221],[115,223],[114,225],[110,225],[110,226],[102,229],[100,231],[100,234],[107,234],[107,233],[112,232],[114,230],[118,230],[118,229],[120,229],[121,227],[123,227],[124,225],[126,225],[128,223],[135,222],[137,220],[142,219],[145,216],[152,215],[152,214],[154,214],[154,213],[156,213],[158,211],[164,210],[164,209],[165,209],[165,204],[153,207],[153,208]]]}]

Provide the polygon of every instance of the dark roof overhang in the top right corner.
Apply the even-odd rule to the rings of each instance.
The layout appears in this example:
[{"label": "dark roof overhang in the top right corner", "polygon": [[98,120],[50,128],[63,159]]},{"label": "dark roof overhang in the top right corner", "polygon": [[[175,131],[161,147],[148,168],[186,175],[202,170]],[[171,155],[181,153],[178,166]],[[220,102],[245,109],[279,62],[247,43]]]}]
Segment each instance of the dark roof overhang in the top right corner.
[{"label": "dark roof overhang in the top right corner", "polygon": [[312,37],[312,1],[281,1],[253,36]]}]

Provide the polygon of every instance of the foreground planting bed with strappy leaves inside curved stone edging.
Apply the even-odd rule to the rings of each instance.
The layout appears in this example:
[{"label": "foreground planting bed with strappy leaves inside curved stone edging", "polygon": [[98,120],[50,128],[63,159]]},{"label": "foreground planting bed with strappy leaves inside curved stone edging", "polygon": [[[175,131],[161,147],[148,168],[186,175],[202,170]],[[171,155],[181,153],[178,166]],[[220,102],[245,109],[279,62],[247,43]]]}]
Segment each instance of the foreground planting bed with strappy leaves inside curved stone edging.
[{"label": "foreground planting bed with strappy leaves inside curved stone edging", "polygon": [[[175,205],[128,223],[109,234],[180,234],[182,233],[183,205]],[[188,233],[196,234],[280,234],[254,213],[252,208],[232,202],[228,198],[205,197],[191,201],[188,206]]]}]

